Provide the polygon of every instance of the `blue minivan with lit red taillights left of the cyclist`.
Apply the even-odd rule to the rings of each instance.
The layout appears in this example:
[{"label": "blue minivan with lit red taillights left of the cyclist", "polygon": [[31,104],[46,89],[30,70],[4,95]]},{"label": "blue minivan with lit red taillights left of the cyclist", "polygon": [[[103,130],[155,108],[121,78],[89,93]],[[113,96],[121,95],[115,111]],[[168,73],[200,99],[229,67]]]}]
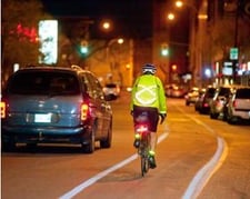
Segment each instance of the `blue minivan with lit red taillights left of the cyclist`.
[{"label": "blue minivan with lit red taillights left of the cyclist", "polygon": [[98,79],[77,66],[31,67],[8,80],[1,100],[2,149],[17,143],[80,145],[94,151],[94,142],[111,147],[112,110]]}]

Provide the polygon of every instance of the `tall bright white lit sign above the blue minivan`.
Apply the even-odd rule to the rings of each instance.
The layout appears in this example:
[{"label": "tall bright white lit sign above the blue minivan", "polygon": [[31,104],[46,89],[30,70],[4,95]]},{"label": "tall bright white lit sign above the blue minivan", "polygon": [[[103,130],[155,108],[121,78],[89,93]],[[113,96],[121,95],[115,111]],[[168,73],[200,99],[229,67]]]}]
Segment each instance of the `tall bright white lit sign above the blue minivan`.
[{"label": "tall bright white lit sign above the blue minivan", "polygon": [[39,22],[39,40],[41,43],[39,63],[53,64],[58,59],[58,21],[42,20]]}]

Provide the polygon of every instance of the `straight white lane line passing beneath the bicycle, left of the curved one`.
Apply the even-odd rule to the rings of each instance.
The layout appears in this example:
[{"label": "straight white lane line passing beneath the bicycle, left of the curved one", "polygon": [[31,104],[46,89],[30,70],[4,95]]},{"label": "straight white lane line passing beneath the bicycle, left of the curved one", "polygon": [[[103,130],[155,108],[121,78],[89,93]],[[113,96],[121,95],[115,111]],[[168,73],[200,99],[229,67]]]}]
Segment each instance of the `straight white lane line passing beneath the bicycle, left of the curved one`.
[{"label": "straight white lane line passing beneath the bicycle, left of the curved one", "polygon": [[[158,139],[158,143],[161,142],[162,140],[164,140],[168,137],[168,133],[162,133],[159,139]],[[110,167],[109,169],[97,173],[96,176],[93,176],[92,178],[88,179],[87,181],[83,181],[82,183],[80,183],[79,186],[74,187],[73,189],[71,189],[70,191],[68,191],[67,193],[64,193],[63,196],[60,197],[60,199],[70,199],[72,197],[74,197],[76,195],[78,195],[79,192],[83,191],[86,188],[88,188],[89,186],[93,185],[94,182],[97,182],[98,180],[100,180],[101,178],[106,177],[107,175],[109,175],[110,172],[113,172],[114,170],[130,163],[131,161],[136,160],[138,158],[138,155],[133,155],[127,159],[124,159],[123,161],[114,165],[113,167]]]}]

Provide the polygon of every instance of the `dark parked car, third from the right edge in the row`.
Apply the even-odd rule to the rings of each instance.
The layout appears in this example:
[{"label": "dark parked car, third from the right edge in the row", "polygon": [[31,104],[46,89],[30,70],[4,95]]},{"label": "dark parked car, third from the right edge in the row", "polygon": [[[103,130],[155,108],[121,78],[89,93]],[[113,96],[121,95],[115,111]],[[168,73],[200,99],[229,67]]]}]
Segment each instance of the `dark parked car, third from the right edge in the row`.
[{"label": "dark parked car, third from the right edge in the row", "polygon": [[208,87],[198,100],[194,103],[196,110],[200,113],[209,113],[210,112],[210,103],[214,96],[216,88]]}]

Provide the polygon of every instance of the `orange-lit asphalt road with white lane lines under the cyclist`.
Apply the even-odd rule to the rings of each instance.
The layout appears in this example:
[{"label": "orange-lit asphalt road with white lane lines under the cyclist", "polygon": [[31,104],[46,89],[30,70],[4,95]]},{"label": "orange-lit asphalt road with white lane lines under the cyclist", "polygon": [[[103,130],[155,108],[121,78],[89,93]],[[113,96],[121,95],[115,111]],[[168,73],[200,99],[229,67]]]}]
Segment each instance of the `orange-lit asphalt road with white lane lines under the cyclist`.
[{"label": "orange-lit asphalt road with white lane lines under the cyclist", "polygon": [[158,167],[146,177],[132,147],[129,93],[111,102],[113,141],[92,155],[71,146],[20,147],[1,156],[1,197],[79,199],[250,198],[250,126],[230,126],[168,99]]}]

